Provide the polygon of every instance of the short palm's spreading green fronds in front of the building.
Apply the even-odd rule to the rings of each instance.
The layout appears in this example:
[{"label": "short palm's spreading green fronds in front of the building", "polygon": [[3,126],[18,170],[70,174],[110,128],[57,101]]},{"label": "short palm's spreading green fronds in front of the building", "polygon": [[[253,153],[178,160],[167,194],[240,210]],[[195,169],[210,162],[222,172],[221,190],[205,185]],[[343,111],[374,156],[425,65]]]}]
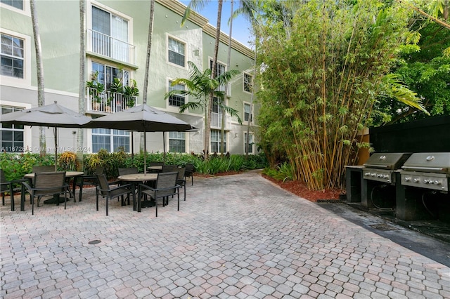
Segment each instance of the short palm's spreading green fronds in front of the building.
[{"label": "short palm's spreading green fronds in front of the building", "polygon": [[[213,79],[211,76],[211,69],[205,69],[205,71],[201,72],[192,61],[188,61],[188,65],[191,68],[189,79],[179,78],[172,82],[172,86],[175,86],[176,84],[183,84],[186,86],[186,90],[169,91],[165,93],[165,100],[172,95],[190,95],[193,98],[197,98],[197,102],[186,102],[186,104],[181,105],[179,112],[183,113],[187,109],[201,109],[205,112],[205,127],[207,127],[207,121],[210,119],[210,117],[207,117],[207,109],[209,109],[208,103],[211,103],[211,105],[209,105],[210,107],[214,104],[214,102],[210,100],[210,95],[212,94],[214,98],[217,98],[217,104],[221,107],[221,109],[226,111],[226,113],[230,114],[232,117],[236,117],[239,124],[242,124],[238,111],[224,105],[224,91],[217,90],[219,86],[228,84],[234,76],[239,74],[239,71],[236,69],[231,69]],[[209,121],[209,123],[211,123],[211,121]]]}]

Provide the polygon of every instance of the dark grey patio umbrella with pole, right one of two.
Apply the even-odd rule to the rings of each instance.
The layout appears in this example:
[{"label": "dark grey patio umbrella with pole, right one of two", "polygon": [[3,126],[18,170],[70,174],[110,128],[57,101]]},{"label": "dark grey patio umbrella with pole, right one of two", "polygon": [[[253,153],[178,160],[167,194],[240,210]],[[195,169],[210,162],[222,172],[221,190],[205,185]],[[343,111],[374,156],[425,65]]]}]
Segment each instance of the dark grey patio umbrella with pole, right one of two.
[{"label": "dark grey patio umbrella with pole, right one of two", "polygon": [[[92,119],[85,128],[112,128],[116,130],[143,132],[144,136],[144,173],[146,163],[146,132],[184,132],[196,129],[194,126],[166,112],[146,104],[131,107],[113,114]],[[163,138],[164,139],[164,138]]]}]

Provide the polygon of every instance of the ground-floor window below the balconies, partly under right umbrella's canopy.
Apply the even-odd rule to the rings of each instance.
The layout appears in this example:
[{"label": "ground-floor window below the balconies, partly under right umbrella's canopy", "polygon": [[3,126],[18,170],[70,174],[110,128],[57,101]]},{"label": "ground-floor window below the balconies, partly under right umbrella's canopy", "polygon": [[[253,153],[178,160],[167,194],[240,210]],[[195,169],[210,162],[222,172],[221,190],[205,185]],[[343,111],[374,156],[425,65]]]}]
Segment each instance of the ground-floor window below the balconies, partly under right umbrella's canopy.
[{"label": "ground-floor window below the balconies, partly under right umbrella's canopy", "polygon": [[119,147],[123,147],[125,152],[129,152],[129,138],[128,131],[93,128],[92,152],[98,152],[101,149],[105,149],[108,152],[117,152]]}]

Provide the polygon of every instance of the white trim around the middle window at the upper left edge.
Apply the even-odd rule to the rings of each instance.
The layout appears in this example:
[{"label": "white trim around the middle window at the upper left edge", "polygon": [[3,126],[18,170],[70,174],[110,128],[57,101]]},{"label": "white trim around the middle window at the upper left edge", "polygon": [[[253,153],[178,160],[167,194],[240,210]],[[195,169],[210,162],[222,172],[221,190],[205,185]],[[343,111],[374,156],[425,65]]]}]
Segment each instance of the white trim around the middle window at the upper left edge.
[{"label": "white trim around the middle window at the upper left edge", "polygon": [[32,77],[32,52],[34,51],[34,46],[32,46],[32,37],[4,28],[0,28],[0,33],[14,36],[18,39],[23,39],[25,47],[23,58],[23,79],[0,75],[1,85],[18,88],[30,88]]}]

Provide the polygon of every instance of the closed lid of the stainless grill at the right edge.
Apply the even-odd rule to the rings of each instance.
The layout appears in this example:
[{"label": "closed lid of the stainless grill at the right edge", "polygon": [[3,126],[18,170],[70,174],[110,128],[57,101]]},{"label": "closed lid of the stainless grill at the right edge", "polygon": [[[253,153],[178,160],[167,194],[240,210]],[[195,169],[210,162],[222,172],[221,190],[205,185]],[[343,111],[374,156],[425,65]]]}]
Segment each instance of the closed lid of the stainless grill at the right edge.
[{"label": "closed lid of the stainless grill at the right edge", "polygon": [[450,152],[417,152],[401,168],[404,171],[450,174]]}]

